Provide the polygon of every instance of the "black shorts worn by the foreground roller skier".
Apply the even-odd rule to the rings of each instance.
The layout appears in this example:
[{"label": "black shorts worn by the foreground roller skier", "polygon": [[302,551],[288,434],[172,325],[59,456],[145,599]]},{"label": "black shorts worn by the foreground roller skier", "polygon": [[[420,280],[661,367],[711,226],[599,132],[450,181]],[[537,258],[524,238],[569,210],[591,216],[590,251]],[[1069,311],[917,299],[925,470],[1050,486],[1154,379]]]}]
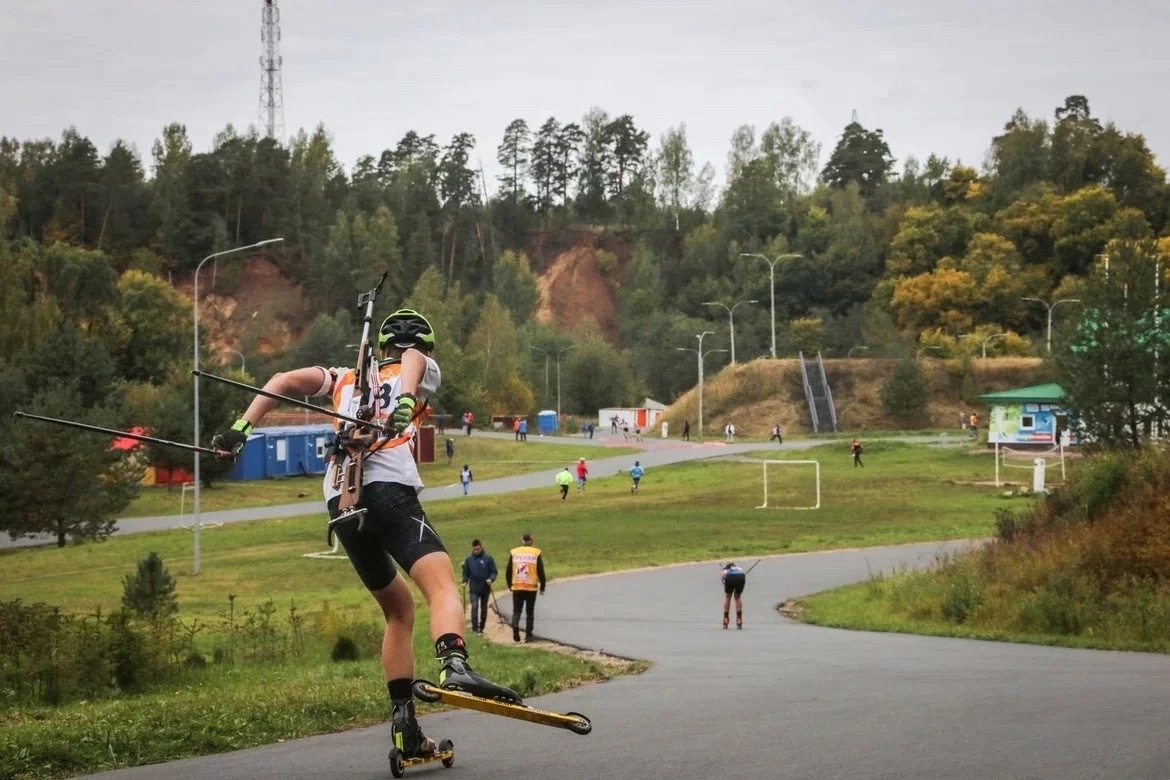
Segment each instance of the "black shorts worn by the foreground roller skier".
[{"label": "black shorts worn by the foreground roller skier", "polygon": [[[330,499],[329,517],[340,513],[340,496]],[[345,548],[353,571],[371,591],[380,591],[393,581],[394,562],[410,573],[414,564],[433,552],[447,552],[442,539],[427,519],[419,493],[410,485],[371,482],[362,485],[359,506],[367,511],[358,530],[357,520],[346,520],[333,529]]]}]

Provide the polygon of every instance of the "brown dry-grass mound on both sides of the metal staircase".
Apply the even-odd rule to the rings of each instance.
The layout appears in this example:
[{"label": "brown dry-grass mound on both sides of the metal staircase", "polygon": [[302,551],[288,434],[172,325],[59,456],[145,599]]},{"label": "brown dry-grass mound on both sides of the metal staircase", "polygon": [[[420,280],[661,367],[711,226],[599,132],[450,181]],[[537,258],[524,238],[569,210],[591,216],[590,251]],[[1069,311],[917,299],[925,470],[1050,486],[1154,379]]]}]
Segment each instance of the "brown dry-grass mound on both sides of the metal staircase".
[{"label": "brown dry-grass mound on both sides of the metal staircase", "polygon": [[[882,358],[826,359],[825,372],[837,406],[838,429],[844,433],[893,430],[904,427],[882,409],[881,388],[895,360]],[[972,410],[985,414],[982,405],[963,402],[963,368],[958,360],[921,363],[930,382],[928,406],[931,428],[959,428]],[[1044,364],[1038,358],[989,358],[972,364],[978,393],[1021,387],[1044,381]],[[977,393],[977,394],[978,394]],[[672,432],[689,420],[698,423],[698,388],[683,393],[667,409],[665,420]],[[735,423],[742,435],[768,435],[780,423],[785,433],[811,433],[808,407],[796,359],[759,359],[728,366],[703,382],[703,427],[717,435],[724,424]]]}]

